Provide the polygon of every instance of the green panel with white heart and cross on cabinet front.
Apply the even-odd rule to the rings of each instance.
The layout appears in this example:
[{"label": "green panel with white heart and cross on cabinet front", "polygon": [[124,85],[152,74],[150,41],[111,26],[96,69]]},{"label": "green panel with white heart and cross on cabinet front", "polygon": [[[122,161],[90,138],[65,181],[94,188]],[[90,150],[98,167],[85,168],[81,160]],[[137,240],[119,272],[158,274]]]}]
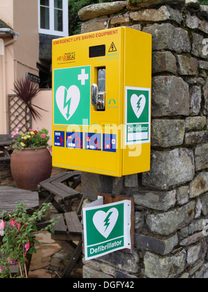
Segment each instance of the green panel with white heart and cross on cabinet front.
[{"label": "green panel with white heart and cross on cabinet front", "polygon": [[90,66],[56,69],[53,82],[54,124],[89,125]]}]

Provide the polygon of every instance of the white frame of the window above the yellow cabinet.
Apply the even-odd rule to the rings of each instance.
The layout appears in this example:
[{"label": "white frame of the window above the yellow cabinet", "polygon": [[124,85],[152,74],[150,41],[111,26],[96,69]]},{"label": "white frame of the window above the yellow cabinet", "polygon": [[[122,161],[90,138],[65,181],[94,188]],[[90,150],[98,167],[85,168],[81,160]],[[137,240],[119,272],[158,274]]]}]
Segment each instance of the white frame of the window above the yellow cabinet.
[{"label": "white frame of the window above the yellow cabinet", "polygon": [[40,0],[38,0],[38,28],[39,33],[45,35],[55,35],[55,36],[68,36],[69,27],[68,27],[68,0],[62,0],[62,22],[63,22],[63,31],[55,31],[55,19],[54,19],[54,10],[55,10],[54,0],[49,0],[49,29],[40,28]]}]

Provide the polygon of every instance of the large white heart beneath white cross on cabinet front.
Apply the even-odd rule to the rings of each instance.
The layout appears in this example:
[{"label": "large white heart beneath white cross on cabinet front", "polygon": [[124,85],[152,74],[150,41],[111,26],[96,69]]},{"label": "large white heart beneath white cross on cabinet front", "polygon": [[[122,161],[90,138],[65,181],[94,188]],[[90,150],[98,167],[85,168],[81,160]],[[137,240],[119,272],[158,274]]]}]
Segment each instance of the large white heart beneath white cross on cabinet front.
[{"label": "large white heart beneath white cross on cabinet front", "polygon": [[68,90],[60,86],[56,90],[55,100],[63,117],[68,121],[80,103],[80,90],[77,86],[70,86]]}]

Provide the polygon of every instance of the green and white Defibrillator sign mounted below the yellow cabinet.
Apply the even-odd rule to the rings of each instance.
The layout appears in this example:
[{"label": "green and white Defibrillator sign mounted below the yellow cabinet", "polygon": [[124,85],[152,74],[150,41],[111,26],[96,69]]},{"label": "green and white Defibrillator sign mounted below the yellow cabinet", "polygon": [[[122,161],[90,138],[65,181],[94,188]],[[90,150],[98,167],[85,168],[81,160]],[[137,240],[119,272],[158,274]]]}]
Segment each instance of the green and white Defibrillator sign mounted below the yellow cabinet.
[{"label": "green and white Defibrillator sign mounted below the yellow cabinet", "polygon": [[131,248],[130,214],[130,200],[83,208],[86,260]]}]

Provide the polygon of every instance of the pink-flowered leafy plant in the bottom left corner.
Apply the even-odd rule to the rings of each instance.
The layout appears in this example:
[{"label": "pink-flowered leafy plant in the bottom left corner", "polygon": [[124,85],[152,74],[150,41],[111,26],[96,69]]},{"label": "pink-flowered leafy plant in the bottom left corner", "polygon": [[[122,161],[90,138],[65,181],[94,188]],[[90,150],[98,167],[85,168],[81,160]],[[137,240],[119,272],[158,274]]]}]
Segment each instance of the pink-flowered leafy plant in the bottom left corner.
[{"label": "pink-flowered leafy plant in the bottom left corner", "polygon": [[[26,205],[19,203],[14,211],[7,213],[3,211],[1,216],[3,220],[0,221],[0,231],[3,235],[3,240],[0,249],[0,278],[12,277],[11,267],[13,265],[19,267],[19,275],[13,277],[28,277],[27,274],[27,255],[36,252],[35,240],[33,232],[37,232],[35,222],[41,220],[43,215],[48,216],[47,209],[51,207],[51,203],[43,204],[42,209],[34,212],[30,216],[26,211]],[[53,232],[53,225],[55,220],[50,220],[49,225],[43,230],[50,230]]]}]

